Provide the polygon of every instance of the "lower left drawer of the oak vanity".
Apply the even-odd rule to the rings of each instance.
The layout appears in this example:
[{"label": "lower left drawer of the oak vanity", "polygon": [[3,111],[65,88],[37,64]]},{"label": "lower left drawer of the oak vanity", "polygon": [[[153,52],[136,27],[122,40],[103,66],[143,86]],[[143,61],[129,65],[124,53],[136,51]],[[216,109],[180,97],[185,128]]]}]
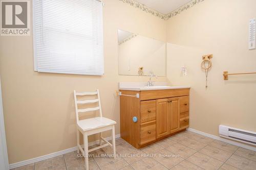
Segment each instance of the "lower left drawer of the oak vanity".
[{"label": "lower left drawer of the oak vanity", "polygon": [[156,120],[140,124],[140,144],[156,140]]}]

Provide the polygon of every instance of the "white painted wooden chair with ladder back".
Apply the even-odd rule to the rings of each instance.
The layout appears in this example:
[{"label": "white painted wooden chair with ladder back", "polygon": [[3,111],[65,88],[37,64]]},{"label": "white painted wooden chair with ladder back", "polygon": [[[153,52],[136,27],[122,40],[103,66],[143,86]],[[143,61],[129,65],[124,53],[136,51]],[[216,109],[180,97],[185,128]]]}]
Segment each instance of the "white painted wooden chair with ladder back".
[{"label": "white painted wooden chair with ladder back", "polygon": [[[83,95],[97,95],[97,99],[94,100],[77,100],[77,96],[83,96]],[[116,122],[114,120],[111,120],[109,118],[102,117],[102,111],[101,111],[101,105],[100,105],[100,96],[99,96],[99,90],[95,92],[76,92],[74,90],[74,98],[75,98],[75,108],[76,108],[76,123],[77,123],[77,153],[81,151],[85,158],[85,164],[86,169],[89,169],[89,152],[95,151],[97,149],[106,147],[110,145],[111,148],[113,148],[113,157],[115,159],[116,155],[116,145],[115,145],[115,124]],[[78,104],[90,104],[90,103],[98,103],[98,107],[93,108],[86,108],[86,109],[78,109]],[[99,117],[93,117],[93,118],[87,118],[87,119],[81,119],[79,120],[78,113],[81,112],[88,112],[88,111],[95,111],[99,110],[100,116]],[[112,144],[104,139],[102,137],[102,132],[112,130]],[[83,134],[83,147],[82,149],[80,142],[79,142],[79,131]],[[88,136],[99,133],[99,146],[88,149]],[[101,145],[101,141],[105,141],[106,143]]]}]

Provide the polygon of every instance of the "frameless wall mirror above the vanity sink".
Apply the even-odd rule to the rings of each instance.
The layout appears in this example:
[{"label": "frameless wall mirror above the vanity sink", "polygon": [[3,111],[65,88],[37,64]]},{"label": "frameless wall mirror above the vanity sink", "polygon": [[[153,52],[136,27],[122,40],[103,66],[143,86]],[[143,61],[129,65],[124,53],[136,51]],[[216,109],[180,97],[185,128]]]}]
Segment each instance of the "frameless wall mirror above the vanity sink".
[{"label": "frameless wall mirror above the vanity sink", "polygon": [[166,43],[118,30],[119,75],[157,76],[166,74]]}]

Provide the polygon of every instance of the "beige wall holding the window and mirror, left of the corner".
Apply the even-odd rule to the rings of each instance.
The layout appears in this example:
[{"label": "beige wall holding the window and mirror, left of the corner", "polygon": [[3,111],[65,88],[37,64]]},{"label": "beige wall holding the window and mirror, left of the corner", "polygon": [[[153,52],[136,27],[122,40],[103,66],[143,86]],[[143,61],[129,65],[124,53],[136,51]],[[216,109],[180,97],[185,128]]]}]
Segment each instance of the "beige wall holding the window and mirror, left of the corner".
[{"label": "beige wall holding the window and mirror, left of the corner", "polygon": [[74,89],[99,88],[103,116],[116,120],[116,134],[120,133],[119,98],[115,94],[118,82],[147,81],[148,77],[118,76],[117,30],[166,41],[166,22],[117,0],[104,0],[104,3],[104,76],[35,72],[32,35],[0,37],[9,163],[75,147]]}]

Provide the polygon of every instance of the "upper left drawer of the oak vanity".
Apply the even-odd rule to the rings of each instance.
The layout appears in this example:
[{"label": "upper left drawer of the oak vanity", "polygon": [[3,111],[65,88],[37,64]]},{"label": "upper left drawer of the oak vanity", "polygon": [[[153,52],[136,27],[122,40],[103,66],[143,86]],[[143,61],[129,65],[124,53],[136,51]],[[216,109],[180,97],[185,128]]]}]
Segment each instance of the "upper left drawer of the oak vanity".
[{"label": "upper left drawer of the oak vanity", "polygon": [[140,102],[140,123],[156,119],[156,100]]}]

